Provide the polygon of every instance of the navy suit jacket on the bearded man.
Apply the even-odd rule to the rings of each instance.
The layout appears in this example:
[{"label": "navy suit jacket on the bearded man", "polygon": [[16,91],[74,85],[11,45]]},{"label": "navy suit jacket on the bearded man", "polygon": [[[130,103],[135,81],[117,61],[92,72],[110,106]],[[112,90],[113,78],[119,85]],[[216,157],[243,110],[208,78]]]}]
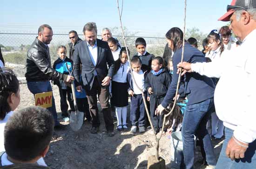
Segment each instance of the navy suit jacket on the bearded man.
[{"label": "navy suit jacket on the bearded man", "polygon": [[[100,84],[106,76],[112,78],[114,72],[115,61],[108,43],[100,39],[97,39],[96,41],[98,56],[95,66],[90,57],[87,42],[85,40],[77,44],[74,50],[74,82],[76,86],[82,85],[87,90],[90,90],[93,86],[95,70]],[[80,75],[82,76],[82,81],[80,81]]]}]

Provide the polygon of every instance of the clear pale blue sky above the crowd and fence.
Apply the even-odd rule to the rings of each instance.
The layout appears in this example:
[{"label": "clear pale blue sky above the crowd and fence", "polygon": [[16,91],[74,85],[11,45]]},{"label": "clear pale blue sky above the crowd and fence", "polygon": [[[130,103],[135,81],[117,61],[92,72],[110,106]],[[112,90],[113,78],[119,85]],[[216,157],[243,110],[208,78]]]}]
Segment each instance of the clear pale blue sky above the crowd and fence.
[{"label": "clear pale blue sky above the crowd and fence", "polygon": [[[120,4],[121,4],[121,0]],[[203,33],[227,25],[217,21],[231,0],[187,0],[186,27]],[[124,0],[122,22],[142,37],[164,37],[172,27],[183,30],[184,0]],[[1,0],[0,32],[36,33],[42,24],[54,33],[79,34],[87,22],[120,27],[116,0]]]}]

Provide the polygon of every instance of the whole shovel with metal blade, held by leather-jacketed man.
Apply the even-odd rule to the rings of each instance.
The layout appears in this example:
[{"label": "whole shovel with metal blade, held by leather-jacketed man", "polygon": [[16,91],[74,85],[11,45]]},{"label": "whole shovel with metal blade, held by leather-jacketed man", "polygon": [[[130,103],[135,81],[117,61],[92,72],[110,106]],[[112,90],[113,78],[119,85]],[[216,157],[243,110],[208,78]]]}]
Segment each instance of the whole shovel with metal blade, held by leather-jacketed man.
[{"label": "whole shovel with metal blade, held by leather-jacketed man", "polygon": [[[66,66],[67,66],[67,63],[66,63]],[[75,63],[74,63],[74,67],[75,67]],[[72,75],[74,68],[70,72],[70,70],[68,69],[68,66],[67,66],[67,70],[69,72],[69,75]],[[81,129],[81,126],[83,125],[84,113],[78,111],[78,109],[77,109],[75,90],[74,90],[74,81],[72,81],[72,83],[71,83],[71,88],[72,88],[72,94],[73,94],[73,99],[74,99],[75,112],[70,113],[69,125],[73,131],[78,131],[79,129]]]}]

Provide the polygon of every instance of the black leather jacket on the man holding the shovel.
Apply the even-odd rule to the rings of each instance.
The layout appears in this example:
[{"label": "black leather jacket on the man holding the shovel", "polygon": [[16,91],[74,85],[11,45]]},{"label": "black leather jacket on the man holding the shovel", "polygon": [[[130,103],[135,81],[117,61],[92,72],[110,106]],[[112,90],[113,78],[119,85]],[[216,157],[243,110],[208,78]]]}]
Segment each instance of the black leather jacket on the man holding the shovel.
[{"label": "black leather jacket on the man holding the shovel", "polygon": [[51,67],[51,57],[44,43],[35,38],[27,51],[27,81],[48,81],[57,78],[66,81],[67,75],[57,72]]}]

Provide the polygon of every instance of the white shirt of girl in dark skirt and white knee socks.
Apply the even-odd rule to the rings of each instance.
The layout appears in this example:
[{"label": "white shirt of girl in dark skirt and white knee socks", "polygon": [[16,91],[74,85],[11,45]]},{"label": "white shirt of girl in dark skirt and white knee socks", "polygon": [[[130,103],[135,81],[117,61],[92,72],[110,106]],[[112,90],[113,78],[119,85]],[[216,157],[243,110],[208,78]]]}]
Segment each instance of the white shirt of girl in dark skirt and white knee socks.
[{"label": "white shirt of girl in dark skirt and white knee socks", "polygon": [[[123,65],[123,66],[122,66]],[[127,73],[130,70],[130,65],[128,62],[122,64],[116,74],[113,76],[112,81],[126,83],[127,82]]]}]

